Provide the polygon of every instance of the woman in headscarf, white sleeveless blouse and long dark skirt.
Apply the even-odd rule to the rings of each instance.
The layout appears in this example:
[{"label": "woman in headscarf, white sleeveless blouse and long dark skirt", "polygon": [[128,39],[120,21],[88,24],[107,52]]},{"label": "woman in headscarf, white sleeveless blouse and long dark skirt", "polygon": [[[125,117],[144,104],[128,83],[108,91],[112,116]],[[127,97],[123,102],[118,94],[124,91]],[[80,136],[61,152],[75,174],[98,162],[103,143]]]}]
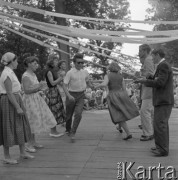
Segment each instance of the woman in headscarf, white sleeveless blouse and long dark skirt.
[{"label": "woman in headscarf, white sleeveless blouse and long dark skirt", "polygon": [[18,163],[9,153],[9,148],[14,145],[19,145],[21,158],[34,158],[25,152],[25,143],[29,141],[31,131],[21,98],[21,85],[13,71],[17,68],[17,60],[11,52],[5,53],[1,59],[4,70],[0,76],[0,145],[4,148],[3,162],[6,164]]}]

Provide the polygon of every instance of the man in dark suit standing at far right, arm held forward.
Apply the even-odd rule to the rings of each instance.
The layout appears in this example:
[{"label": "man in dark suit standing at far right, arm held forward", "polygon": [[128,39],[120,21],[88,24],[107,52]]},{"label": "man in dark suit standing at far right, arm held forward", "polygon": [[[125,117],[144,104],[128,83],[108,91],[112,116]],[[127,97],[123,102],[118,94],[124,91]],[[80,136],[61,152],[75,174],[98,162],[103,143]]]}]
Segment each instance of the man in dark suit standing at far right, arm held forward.
[{"label": "man in dark suit standing at far right, arm held forward", "polygon": [[154,106],[154,136],[155,148],[151,148],[155,156],[168,156],[169,154],[169,125],[168,120],[174,104],[173,73],[170,64],[164,59],[162,49],[152,52],[153,61],[157,69],[153,77],[139,79],[135,83],[142,83],[153,87]]}]

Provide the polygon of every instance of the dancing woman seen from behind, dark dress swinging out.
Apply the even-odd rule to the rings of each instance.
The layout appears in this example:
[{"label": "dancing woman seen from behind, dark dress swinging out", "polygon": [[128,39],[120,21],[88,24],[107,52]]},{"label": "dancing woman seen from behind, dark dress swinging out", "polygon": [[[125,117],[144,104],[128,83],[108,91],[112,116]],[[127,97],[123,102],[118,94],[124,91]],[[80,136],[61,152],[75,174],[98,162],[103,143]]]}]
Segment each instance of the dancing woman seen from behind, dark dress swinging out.
[{"label": "dancing woman seen from behind, dark dress swinging out", "polygon": [[[123,139],[128,140],[132,138],[132,135],[126,121],[137,117],[139,112],[126,92],[120,70],[120,66],[116,62],[112,62],[108,66],[109,72],[105,75],[103,83],[97,85],[95,88],[108,86],[107,103],[112,122],[125,130],[127,136]],[[122,129],[119,130],[122,132]]]}]

